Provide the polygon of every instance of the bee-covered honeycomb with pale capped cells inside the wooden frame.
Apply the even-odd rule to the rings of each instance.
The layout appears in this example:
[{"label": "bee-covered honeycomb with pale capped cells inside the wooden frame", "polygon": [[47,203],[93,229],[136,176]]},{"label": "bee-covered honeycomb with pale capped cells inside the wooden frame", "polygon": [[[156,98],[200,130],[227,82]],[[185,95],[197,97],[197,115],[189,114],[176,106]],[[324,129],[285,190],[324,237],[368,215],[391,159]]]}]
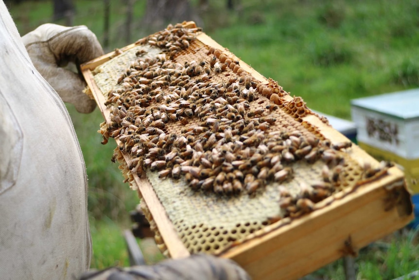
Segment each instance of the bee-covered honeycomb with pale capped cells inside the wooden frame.
[{"label": "bee-covered honeycomb with pale capped cells inside the wooden frame", "polygon": [[225,250],[385,171],[359,166],[350,142],[332,145],[304,121],[314,113],[301,97],[200,33],[170,25],[93,71],[111,111],[104,144],[119,140],[113,160],[126,181],[148,178],[191,253]]}]

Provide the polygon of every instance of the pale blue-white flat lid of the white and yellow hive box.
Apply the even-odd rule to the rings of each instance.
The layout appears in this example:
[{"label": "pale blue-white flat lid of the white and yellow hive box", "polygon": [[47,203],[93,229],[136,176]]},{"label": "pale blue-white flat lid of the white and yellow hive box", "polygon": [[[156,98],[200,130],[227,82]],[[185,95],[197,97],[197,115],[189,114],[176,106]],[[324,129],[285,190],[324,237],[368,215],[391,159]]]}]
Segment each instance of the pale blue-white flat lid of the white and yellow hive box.
[{"label": "pale blue-white flat lid of the white and yellow hive box", "polygon": [[419,89],[385,93],[351,100],[351,105],[391,117],[413,120],[419,118]]}]

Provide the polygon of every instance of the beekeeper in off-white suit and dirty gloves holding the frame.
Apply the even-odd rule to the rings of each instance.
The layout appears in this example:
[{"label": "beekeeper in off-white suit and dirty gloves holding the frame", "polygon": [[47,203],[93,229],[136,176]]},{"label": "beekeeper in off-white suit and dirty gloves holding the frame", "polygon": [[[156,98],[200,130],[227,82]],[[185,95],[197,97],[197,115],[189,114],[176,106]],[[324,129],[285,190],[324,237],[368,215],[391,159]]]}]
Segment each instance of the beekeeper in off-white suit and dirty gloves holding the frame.
[{"label": "beekeeper in off-white suit and dirty gloves holding the frame", "polygon": [[[80,76],[60,66],[102,54],[85,26],[45,24],[21,38],[0,2],[1,279],[74,279],[89,267],[86,167],[62,100],[82,113],[92,112],[95,102],[82,93]],[[180,262],[163,262],[157,270],[114,268],[85,278],[128,273],[136,278],[123,279],[178,279],[180,270],[183,279],[197,273],[199,279],[248,277],[227,260],[196,256]],[[204,269],[208,278],[201,277]]]}]

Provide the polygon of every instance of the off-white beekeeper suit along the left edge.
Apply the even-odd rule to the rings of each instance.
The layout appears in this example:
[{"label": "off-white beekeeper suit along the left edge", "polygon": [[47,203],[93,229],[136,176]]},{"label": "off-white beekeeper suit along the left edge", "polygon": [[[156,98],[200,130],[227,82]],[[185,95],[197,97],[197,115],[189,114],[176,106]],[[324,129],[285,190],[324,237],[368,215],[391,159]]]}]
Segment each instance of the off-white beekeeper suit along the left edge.
[{"label": "off-white beekeeper suit along the left edge", "polygon": [[[97,44],[89,59],[103,54]],[[38,62],[48,65],[44,58]],[[74,279],[91,255],[83,155],[63,101],[35,69],[2,1],[0,65],[0,279]]]}]

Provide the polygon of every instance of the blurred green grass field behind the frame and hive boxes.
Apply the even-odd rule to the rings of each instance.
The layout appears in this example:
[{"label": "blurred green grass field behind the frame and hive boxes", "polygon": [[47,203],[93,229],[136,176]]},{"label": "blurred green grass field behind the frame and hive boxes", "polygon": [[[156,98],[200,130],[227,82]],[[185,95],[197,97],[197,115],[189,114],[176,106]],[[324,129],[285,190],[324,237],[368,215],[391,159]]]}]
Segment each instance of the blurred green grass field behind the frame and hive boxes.
[{"label": "blurred green grass field behind the frame and hive boxes", "polygon": [[[198,0],[191,2],[196,7]],[[74,25],[87,25],[103,41],[103,1],[75,4]],[[132,38],[146,35],[140,23],[144,5],[134,4]],[[12,5],[11,14],[22,35],[52,22],[50,1]],[[124,5],[111,0],[106,51],[127,45],[122,37],[124,14]],[[242,0],[233,11],[225,8],[225,1],[214,0],[200,14],[207,34],[320,112],[350,119],[350,99],[419,86],[419,3],[414,0]],[[92,267],[127,265],[122,228],[129,226],[127,211],[138,199],[110,162],[113,143],[100,145],[100,112],[81,115],[71,105],[68,109],[89,178]],[[410,231],[362,250],[358,279],[393,279],[418,269],[416,234]],[[159,259],[158,254],[150,258]],[[344,279],[341,264],[332,263],[314,276]]]}]

